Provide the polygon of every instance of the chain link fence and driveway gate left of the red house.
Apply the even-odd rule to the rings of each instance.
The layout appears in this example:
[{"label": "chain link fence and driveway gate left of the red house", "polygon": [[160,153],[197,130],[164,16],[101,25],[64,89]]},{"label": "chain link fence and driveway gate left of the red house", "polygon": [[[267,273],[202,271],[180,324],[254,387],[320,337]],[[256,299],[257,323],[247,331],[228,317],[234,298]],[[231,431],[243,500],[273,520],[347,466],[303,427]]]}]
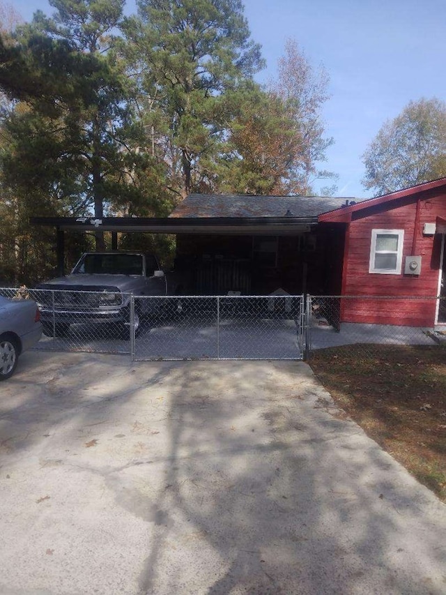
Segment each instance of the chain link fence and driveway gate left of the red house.
[{"label": "chain link fence and driveway gate left of the red house", "polygon": [[302,296],[133,296],[3,288],[38,303],[38,349],[130,354],[137,360],[302,359]]}]

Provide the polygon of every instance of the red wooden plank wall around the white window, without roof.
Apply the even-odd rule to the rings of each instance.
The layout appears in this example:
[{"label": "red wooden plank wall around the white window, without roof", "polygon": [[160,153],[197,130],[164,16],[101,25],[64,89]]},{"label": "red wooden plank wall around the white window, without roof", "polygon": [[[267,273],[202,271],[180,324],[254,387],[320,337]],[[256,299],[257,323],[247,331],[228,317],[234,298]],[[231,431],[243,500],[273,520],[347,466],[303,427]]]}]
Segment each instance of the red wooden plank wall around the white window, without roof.
[{"label": "red wooden plank wall around the white window, without roof", "polygon": [[[446,217],[446,195],[428,198],[415,195],[352,213],[342,295],[379,296],[379,300],[342,300],[341,322],[433,326],[436,300],[422,298],[433,298],[438,292],[441,236],[424,236],[423,226],[424,223],[435,223],[437,216]],[[372,229],[404,230],[401,274],[369,273]],[[420,275],[404,274],[408,255],[422,256]],[[394,299],[383,299],[382,296]],[[396,299],[402,296],[413,299]]]}]

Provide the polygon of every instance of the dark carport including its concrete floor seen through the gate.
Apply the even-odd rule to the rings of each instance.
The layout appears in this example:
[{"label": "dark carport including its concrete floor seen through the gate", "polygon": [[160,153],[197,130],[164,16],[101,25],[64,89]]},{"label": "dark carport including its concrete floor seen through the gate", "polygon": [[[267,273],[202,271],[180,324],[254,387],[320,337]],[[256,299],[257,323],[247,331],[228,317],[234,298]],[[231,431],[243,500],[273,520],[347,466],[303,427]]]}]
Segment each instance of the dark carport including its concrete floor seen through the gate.
[{"label": "dark carport including its concrete floor seen through the gate", "polygon": [[[119,234],[175,234],[183,296],[164,299],[167,317],[131,338],[133,359],[302,359],[305,294],[340,291],[344,232],[318,224],[318,215],[342,204],[346,199],[190,195],[167,218],[31,223],[56,229],[59,275],[70,232],[109,233],[115,250]],[[99,345],[85,324],[79,332],[72,336],[77,350],[123,350]]]}]

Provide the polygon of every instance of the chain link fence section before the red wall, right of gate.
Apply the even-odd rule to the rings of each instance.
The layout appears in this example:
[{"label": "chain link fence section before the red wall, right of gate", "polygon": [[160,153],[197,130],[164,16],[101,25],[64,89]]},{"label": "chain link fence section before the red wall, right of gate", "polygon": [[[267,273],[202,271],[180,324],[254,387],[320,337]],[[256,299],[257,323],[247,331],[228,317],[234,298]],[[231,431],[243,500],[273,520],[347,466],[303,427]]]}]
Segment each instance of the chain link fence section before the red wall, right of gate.
[{"label": "chain link fence section before the red wall, right of gate", "polygon": [[[306,355],[356,345],[355,356],[376,355],[380,345],[446,342],[446,297],[308,296]],[[434,321],[444,322],[444,332]],[[436,328],[441,328],[438,325]]]}]

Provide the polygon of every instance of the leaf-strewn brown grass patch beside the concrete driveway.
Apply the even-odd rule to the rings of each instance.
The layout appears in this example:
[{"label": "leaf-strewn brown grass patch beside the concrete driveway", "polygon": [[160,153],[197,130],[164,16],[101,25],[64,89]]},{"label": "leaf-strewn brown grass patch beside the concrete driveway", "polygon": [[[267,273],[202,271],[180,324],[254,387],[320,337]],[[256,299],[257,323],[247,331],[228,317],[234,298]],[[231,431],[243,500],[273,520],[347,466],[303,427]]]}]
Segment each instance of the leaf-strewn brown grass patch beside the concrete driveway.
[{"label": "leaf-strewn brown grass patch beside the concrete driveway", "polygon": [[309,364],[345,414],[446,502],[446,346],[330,347]]}]

